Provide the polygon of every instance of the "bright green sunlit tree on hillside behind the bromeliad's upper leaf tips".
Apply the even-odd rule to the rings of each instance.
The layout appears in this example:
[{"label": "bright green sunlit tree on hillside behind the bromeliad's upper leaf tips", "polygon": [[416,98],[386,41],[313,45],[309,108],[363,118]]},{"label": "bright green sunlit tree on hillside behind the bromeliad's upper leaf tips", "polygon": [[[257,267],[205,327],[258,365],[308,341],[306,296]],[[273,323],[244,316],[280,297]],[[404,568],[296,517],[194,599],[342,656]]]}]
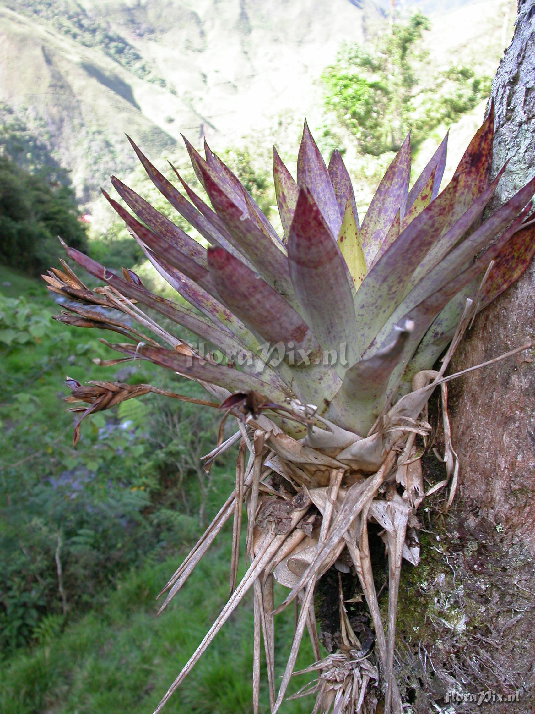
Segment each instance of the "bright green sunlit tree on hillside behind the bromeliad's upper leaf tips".
[{"label": "bright green sunlit tree on hillside behind the bromeliad's upper leaf tips", "polygon": [[429,76],[423,46],[429,21],[414,14],[365,45],[342,46],[322,74],[325,106],[357,139],[362,154],[397,151],[412,129],[412,146],[442,122],[453,123],[488,95],[490,79],[452,66]]}]

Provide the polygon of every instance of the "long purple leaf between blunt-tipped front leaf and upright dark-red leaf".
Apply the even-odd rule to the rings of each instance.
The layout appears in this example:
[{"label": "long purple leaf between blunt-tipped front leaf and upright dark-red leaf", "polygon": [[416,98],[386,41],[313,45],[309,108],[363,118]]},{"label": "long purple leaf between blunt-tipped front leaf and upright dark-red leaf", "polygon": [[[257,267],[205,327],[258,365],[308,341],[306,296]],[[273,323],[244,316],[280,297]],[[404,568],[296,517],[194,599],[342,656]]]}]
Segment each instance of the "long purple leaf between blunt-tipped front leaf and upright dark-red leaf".
[{"label": "long purple leaf between blunt-tipped front leaf and upright dark-red leaf", "polygon": [[[287,257],[247,213],[243,213],[216,183],[210,171],[204,174],[205,189],[210,203],[221,218],[234,246],[253,263],[253,266],[270,285],[293,300],[293,288],[288,271]],[[245,203],[244,208],[246,209]],[[227,251],[228,252],[228,251]]]}]

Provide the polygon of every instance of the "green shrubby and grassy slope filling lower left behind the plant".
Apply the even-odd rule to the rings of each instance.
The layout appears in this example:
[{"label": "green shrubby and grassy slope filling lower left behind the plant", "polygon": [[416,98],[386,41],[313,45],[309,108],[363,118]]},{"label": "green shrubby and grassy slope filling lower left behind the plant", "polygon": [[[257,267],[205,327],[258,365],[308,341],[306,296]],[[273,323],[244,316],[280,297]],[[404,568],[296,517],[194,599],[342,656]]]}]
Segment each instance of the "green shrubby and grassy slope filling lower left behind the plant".
[{"label": "green shrubby and grassy slope filling lower left behind the plant", "polygon": [[[225,600],[228,531],[154,620],[158,590],[233,488],[235,454],[206,475],[198,459],[213,447],[218,415],[158,396],[91,416],[73,449],[67,391],[58,390],[65,363],[73,378],[157,378],[191,396],[204,392],[147,363],[95,366],[92,358],[109,357],[99,333],[51,321],[58,309],[40,283],[0,268],[0,291],[30,295],[0,296],[0,710],[141,714]],[[251,610],[219,636],[170,712],[250,710]],[[290,619],[282,616],[282,648]],[[300,662],[308,660],[303,648]]]}]

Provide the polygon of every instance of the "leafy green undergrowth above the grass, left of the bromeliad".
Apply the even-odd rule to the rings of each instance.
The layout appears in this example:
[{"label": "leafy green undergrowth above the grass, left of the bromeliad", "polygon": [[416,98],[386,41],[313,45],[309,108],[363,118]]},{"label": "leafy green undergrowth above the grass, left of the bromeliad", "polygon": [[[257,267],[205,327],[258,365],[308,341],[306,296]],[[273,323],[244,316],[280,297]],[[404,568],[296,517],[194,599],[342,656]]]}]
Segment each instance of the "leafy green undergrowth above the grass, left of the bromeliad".
[{"label": "leafy green undergrowth above the grass, left of the bromeliad", "polygon": [[[218,418],[188,403],[169,400],[162,408],[156,395],[123,402],[116,415],[96,414],[72,448],[72,415],[63,412],[57,388],[65,371],[128,382],[151,381],[154,368],[96,366],[91,357],[106,356],[98,333],[81,336],[51,322],[55,308],[40,297],[39,283],[4,270],[6,277],[14,293],[31,286],[36,294],[0,294],[1,660],[45,642],[53,623],[61,620],[63,628],[100,608],[118,578],[146,558],[162,560],[193,543],[199,514],[214,513],[226,490],[224,458],[201,474],[204,492],[196,486],[199,464],[188,449],[197,456],[210,450]],[[173,390],[175,381],[169,374],[160,384]],[[193,382],[186,391],[203,396]],[[177,432],[175,423],[191,424],[195,433]]]}]

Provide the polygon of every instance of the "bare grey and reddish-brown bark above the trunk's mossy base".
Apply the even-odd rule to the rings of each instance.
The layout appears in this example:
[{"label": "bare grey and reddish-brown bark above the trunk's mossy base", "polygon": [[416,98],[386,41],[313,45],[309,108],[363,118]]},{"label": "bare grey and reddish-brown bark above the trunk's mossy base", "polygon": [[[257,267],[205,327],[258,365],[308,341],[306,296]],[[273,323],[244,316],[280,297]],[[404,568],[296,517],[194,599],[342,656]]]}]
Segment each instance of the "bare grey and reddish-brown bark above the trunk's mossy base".
[{"label": "bare grey and reddish-brown bark above the trunk's mossy base", "polygon": [[[496,208],[535,174],[535,0],[519,0],[514,37],[491,96],[494,176],[509,161],[496,191]],[[534,296],[535,261],[479,315],[459,348],[454,370],[535,338]],[[534,351],[470,373],[453,383],[451,394],[464,505],[535,552]]]}]

